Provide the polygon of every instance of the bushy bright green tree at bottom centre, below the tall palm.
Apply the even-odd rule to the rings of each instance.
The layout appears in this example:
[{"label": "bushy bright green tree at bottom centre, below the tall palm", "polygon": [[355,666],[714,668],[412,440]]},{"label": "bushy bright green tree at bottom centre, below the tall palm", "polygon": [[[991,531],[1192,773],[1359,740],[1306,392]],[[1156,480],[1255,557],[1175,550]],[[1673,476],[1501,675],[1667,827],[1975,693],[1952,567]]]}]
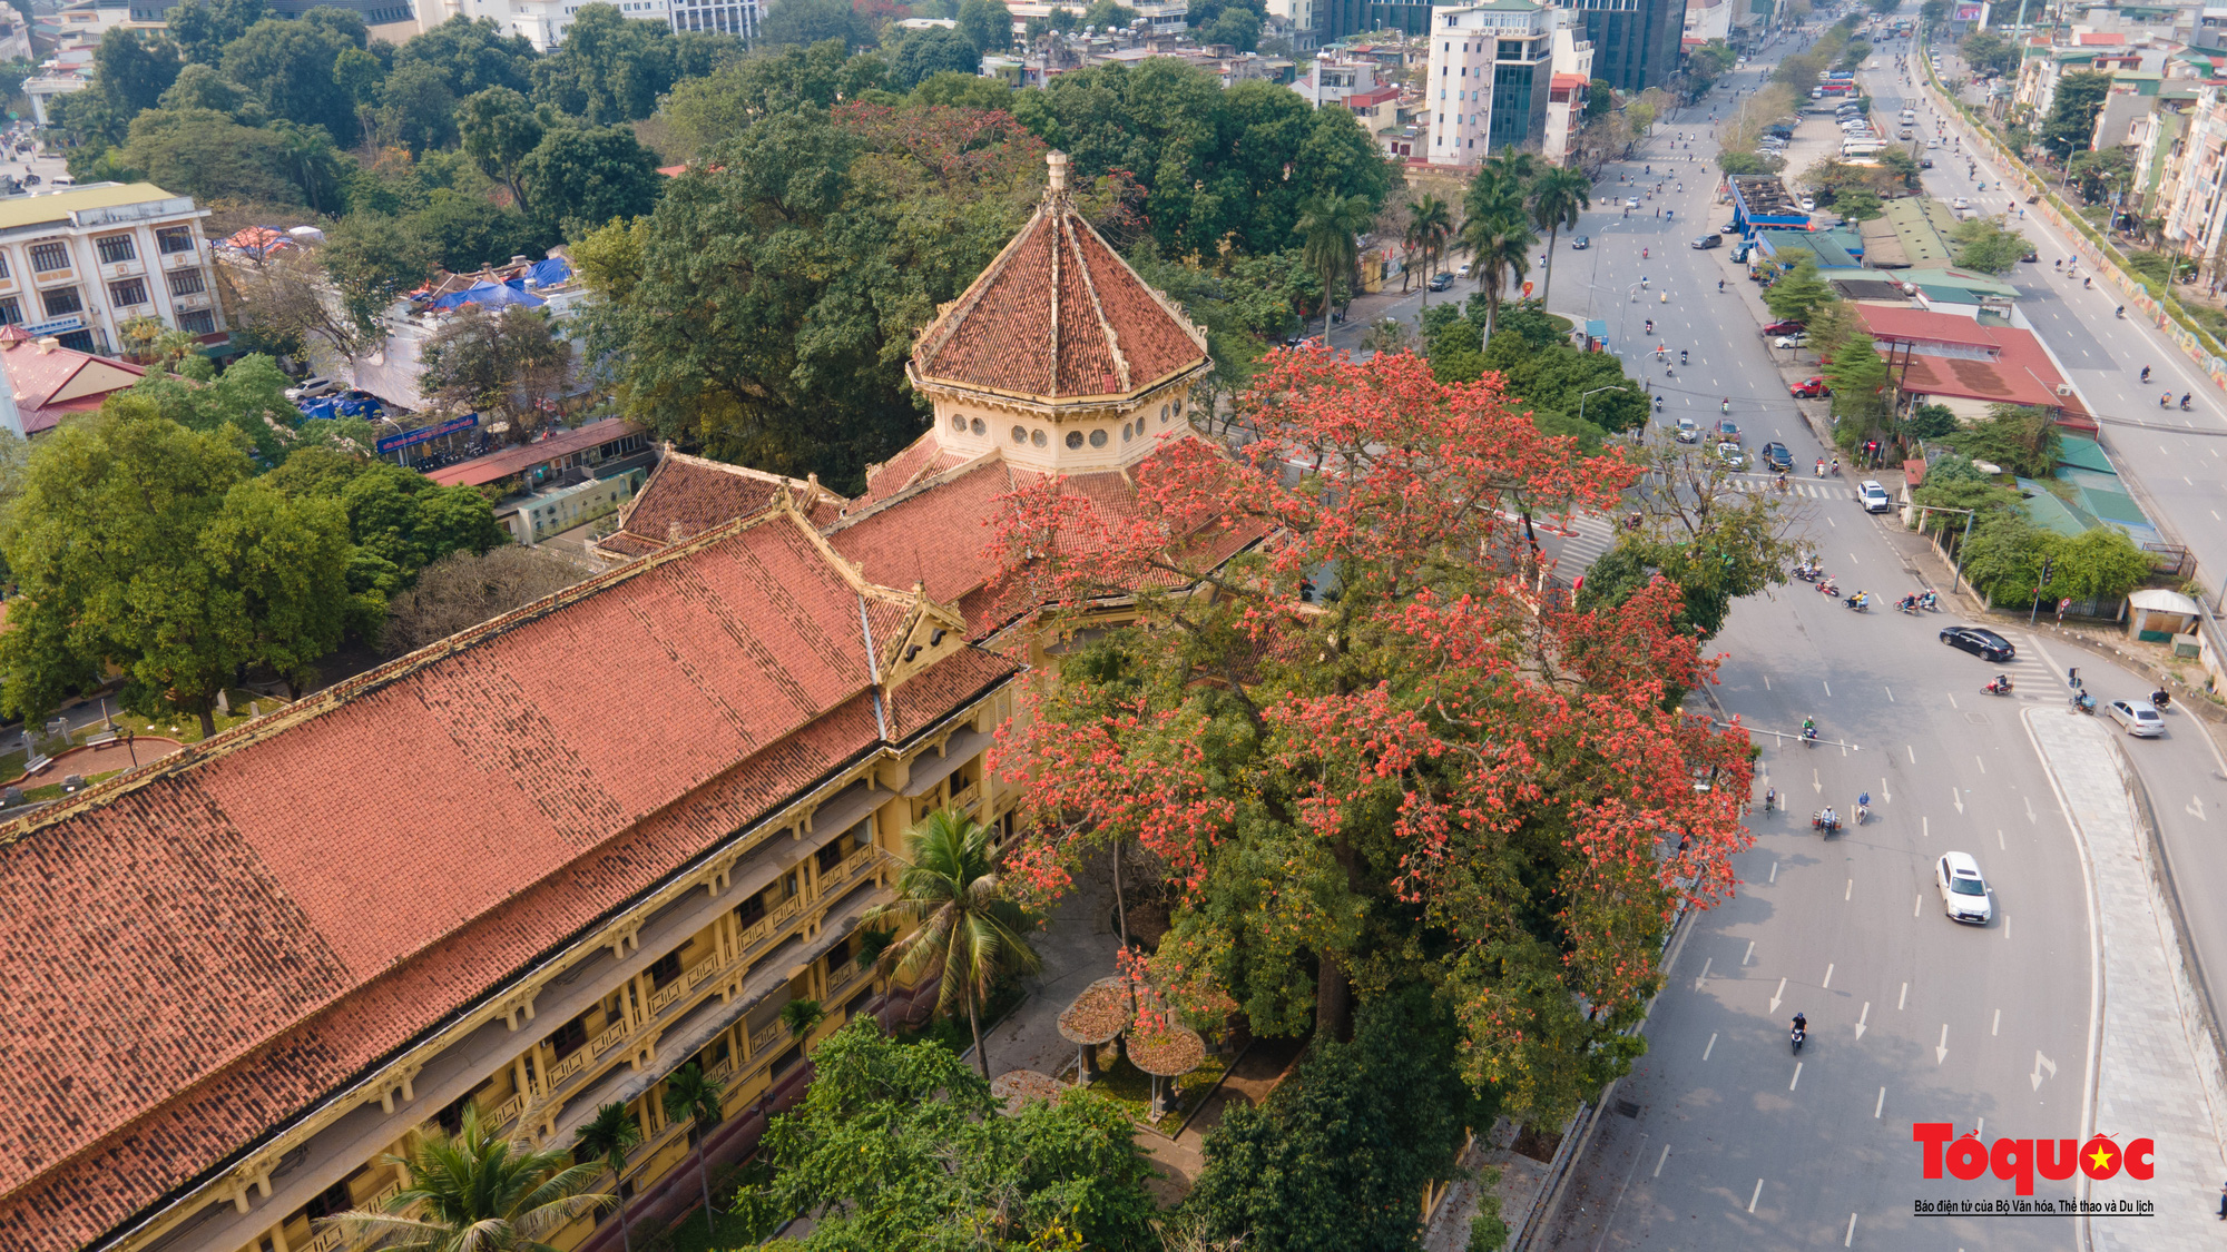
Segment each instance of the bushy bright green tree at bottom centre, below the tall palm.
[{"label": "bushy bright green tree at bottom centre, below the tall palm", "polygon": [[804,1103],[766,1129],[782,1212],[817,1214],[802,1250],[1158,1252],[1127,1114],[1087,1089],[998,1105],[938,1043],[893,1043],[871,1018],[824,1038]]}]

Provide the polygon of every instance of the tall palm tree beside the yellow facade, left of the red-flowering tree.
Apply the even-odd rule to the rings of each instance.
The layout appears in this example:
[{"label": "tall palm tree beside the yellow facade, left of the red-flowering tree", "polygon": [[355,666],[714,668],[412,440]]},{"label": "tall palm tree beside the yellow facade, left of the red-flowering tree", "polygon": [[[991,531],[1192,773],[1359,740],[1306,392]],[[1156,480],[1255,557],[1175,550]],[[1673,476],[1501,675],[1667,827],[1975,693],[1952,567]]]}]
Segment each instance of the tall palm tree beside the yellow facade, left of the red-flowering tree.
[{"label": "tall palm tree beside the yellow facade, left of the red-flowering tree", "polygon": [[[1365,198],[1352,200],[1367,212]],[[1345,232],[1345,241],[1352,243],[1352,232]],[[1327,323],[1323,330],[1327,334]],[[1031,929],[1029,916],[998,893],[989,829],[980,822],[938,809],[904,833],[900,860],[904,871],[897,873],[897,898],[869,909],[860,925],[918,922],[918,929],[882,951],[882,974],[895,971],[911,980],[929,967],[942,967],[935,1009],[949,1014],[955,1000],[967,1000],[975,1063],[989,1078],[982,998],[1000,974],[1036,974],[1044,965],[1022,938]]]}]

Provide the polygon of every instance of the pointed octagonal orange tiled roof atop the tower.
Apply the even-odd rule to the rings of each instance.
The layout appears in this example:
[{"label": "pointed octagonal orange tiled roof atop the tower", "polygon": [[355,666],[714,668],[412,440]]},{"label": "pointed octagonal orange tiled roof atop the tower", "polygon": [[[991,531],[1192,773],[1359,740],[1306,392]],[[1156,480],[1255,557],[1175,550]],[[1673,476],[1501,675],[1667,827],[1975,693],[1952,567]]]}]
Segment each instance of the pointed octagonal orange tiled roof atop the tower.
[{"label": "pointed octagonal orange tiled roof atop the tower", "polygon": [[1116,397],[1200,365],[1205,336],[1058,187],[920,332],[913,374],[1038,401]]}]

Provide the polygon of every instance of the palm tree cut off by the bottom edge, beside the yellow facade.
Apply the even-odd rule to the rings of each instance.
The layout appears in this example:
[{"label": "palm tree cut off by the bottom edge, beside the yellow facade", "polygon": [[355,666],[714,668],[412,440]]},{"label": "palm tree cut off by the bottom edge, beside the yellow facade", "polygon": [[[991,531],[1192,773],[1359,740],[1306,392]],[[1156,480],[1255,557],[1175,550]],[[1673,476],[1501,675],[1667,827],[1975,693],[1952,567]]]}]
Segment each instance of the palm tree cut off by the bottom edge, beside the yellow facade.
[{"label": "palm tree cut off by the bottom edge, beside the yellow facade", "polygon": [[[532,1150],[479,1125],[465,1105],[457,1134],[425,1138],[399,1165],[408,1185],[387,1212],[343,1212],[325,1221],[352,1241],[392,1239],[394,1252],[541,1252],[546,1239],[612,1196],[590,1194],[604,1163],[572,1161],[563,1147]],[[403,1216],[425,1205],[423,1216]]]}]

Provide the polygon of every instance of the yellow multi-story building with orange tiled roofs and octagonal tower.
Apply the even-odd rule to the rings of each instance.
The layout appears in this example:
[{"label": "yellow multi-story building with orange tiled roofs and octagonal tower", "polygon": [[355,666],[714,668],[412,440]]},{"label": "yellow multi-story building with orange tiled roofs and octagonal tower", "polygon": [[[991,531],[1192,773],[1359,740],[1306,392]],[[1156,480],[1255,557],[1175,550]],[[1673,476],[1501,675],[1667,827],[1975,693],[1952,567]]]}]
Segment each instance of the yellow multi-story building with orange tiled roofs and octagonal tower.
[{"label": "yellow multi-story building with orange tiled roofs and octagonal tower", "polygon": [[[468,1109],[568,1147],[621,1105],[644,1143],[597,1190],[695,1203],[690,1161],[755,1145],[811,1038],[931,1002],[855,929],[911,824],[1013,806],[984,751],[1024,671],[984,644],[1033,606],[984,519],[1047,475],[1120,517],[1209,368],[1053,154],[922,332],[933,426],[862,499],[668,463],[617,568],[0,829],[0,1248],[363,1252],[321,1219]],[[661,1103],[688,1063],[724,1087],[702,1138]]]}]

